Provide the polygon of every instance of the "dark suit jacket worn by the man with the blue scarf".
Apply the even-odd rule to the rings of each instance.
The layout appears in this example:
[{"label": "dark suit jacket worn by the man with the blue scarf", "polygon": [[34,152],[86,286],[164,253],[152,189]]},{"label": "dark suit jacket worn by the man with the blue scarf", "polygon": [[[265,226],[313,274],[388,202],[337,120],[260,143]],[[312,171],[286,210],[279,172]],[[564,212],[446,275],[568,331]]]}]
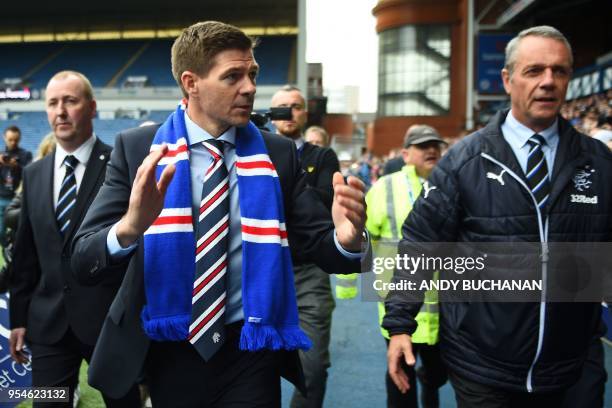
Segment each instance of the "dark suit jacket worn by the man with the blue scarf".
[{"label": "dark suit jacket worn by the man with the blue scarf", "polygon": [[[113,264],[106,239],[112,225],[127,211],[136,171],[147,156],[157,129],[154,126],[137,128],[117,136],[104,185],[73,242],[72,264],[81,282],[100,284],[123,278],[89,367],[89,383],[113,398],[125,395],[137,380],[149,339],[140,321],[145,304],[143,246],[138,245],[122,263]],[[330,273],[359,270],[359,262],[349,261],[335,247],[329,212],[314,191],[305,188],[293,142],[266,132],[263,135],[283,191],[290,245],[316,259]],[[297,353],[288,352],[287,357],[283,359],[286,364],[282,374],[300,383]]]}]

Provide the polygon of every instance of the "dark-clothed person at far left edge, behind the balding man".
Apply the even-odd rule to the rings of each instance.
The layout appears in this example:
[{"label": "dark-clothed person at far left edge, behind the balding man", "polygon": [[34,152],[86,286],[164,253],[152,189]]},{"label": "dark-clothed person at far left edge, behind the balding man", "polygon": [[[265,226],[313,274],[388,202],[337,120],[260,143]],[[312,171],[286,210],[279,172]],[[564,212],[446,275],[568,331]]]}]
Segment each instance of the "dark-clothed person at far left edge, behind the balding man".
[{"label": "dark-clothed person at far left edge, behind the balding man", "polygon": [[32,161],[32,153],[19,147],[21,130],[9,126],[4,130],[5,149],[0,154],[0,244],[6,245],[4,210],[9,205],[21,183],[23,168]]}]

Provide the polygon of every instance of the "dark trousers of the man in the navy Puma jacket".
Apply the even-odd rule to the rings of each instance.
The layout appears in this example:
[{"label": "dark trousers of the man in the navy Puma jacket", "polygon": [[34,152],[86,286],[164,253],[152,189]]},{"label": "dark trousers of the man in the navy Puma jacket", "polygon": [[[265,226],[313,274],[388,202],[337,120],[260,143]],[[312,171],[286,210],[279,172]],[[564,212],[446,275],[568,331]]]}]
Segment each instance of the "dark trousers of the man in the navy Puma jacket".
[{"label": "dark trousers of the man in the navy Puma jacket", "polygon": [[[480,384],[456,372],[448,372],[455,390],[457,408],[548,408],[560,407],[565,391],[547,394],[512,392]],[[576,407],[582,407],[577,405]]]}]

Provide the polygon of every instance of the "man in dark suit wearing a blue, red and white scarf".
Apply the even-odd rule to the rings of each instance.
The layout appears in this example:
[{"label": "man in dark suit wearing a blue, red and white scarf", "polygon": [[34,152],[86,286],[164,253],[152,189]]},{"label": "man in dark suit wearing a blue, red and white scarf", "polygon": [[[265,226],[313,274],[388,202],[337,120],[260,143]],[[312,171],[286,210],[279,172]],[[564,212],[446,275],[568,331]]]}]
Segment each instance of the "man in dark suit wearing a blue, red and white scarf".
[{"label": "man in dark suit wearing a blue, red and white scarf", "polygon": [[332,223],[305,188],[292,142],[249,122],[254,46],[224,23],[183,31],[172,47],[182,106],[161,126],[117,136],[73,242],[81,282],[123,279],[89,370],[90,384],[110,396],[144,371],[156,407],[280,407],[280,376],[303,387],[297,349],[310,346],[289,248],[330,273],[360,268],[363,183],[334,175]]}]

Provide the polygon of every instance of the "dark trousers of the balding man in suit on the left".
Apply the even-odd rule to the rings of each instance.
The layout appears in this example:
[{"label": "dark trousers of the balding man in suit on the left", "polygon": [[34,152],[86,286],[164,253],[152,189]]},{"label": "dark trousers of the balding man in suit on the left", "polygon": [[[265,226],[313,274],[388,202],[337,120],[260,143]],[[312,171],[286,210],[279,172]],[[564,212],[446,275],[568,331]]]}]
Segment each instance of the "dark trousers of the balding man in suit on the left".
[{"label": "dark trousers of the balding man in suit on the left", "polygon": [[[62,339],[53,344],[30,343],[32,351],[32,386],[69,387],[69,402],[35,402],[34,407],[68,408],[72,407],[74,390],[79,381],[79,370],[83,359],[89,363],[93,346],[82,343],[72,330],[68,329]],[[134,385],[121,399],[107,398],[102,394],[107,407],[139,408],[140,392]]]}]

